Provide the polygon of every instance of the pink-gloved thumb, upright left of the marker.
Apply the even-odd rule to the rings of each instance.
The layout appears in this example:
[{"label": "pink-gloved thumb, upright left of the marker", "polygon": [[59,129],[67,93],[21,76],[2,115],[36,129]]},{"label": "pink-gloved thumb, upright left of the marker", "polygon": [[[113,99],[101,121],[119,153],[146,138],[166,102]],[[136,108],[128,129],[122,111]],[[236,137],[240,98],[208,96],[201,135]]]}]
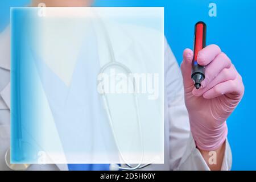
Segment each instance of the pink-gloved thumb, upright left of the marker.
[{"label": "pink-gloved thumb, upright left of the marker", "polygon": [[181,73],[183,76],[184,89],[189,88],[193,85],[193,81],[191,79],[192,60],[193,51],[188,48],[185,49],[183,51],[183,61],[180,65]]}]

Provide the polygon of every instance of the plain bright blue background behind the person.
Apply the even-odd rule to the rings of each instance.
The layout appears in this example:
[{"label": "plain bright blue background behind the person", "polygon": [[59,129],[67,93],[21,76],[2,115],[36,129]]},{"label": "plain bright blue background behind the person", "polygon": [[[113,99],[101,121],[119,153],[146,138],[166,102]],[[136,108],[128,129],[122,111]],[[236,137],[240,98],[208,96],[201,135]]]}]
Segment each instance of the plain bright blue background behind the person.
[{"label": "plain bright blue background behind the person", "polygon": [[[9,23],[10,6],[28,0],[0,1],[0,30]],[[208,15],[208,5],[217,5],[217,17]],[[163,6],[164,30],[179,63],[184,48],[193,46],[194,24],[207,23],[207,44],[217,44],[233,61],[243,77],[245,95],[228,119],[233,170],[256,170],[256,114],[254,71],[256,68],[255,0],[97,0],[94,6]]]}]

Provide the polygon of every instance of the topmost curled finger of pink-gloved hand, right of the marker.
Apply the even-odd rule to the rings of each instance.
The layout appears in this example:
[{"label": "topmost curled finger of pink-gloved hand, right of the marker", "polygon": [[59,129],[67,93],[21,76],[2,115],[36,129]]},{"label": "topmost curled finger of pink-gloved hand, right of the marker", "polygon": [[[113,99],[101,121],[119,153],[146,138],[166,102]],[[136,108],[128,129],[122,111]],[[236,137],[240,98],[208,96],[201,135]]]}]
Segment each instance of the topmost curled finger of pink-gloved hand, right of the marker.
[{"label": "topmost curled finger of pink-gloved hand, right of the marker", "polygon": [[198,52],[197,63],[200,65],[208,65],[219,53],[221,53],[220,47],[211,44]]}]

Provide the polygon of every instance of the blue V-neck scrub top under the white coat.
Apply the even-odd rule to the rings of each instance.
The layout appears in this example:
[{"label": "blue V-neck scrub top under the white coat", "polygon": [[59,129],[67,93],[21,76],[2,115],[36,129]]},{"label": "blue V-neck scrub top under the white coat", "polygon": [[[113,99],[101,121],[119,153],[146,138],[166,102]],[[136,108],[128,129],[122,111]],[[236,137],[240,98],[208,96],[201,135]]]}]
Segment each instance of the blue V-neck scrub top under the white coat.
[{"label": "blue V-neck scrub top under the white coat", "polygon": [[[39,57],[36,57],[36,65],[42,76],[41,81],[49,98],[55,124],[60,129],[59,135],[68,162],[72,161],[72,158],[69,158],[72,155],[69,154],[73,152],[93,154],[93,151],[108,152],[109,148],[113,148],[110,145],[106,146],[106,143],[109,143],[106,141],[113,138],[100,102],[101,97],[97,92],[96,78],[100,71],[97,40],[94,32],[89,35],[81,46],[69,87],[60,81]],[[84,143],[90,144],[85,146]],[[68,164],[68,169],[101,171],[109,170],[109,164]]]}]

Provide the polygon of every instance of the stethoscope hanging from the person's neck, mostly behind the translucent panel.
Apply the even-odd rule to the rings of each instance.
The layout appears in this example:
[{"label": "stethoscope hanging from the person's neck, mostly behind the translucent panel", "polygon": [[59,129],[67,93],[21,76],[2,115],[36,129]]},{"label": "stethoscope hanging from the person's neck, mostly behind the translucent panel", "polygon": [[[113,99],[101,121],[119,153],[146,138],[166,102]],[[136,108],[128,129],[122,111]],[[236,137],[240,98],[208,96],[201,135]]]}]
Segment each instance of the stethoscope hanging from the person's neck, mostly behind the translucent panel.
[{"label": "stethoscope hanging from the person's neck, mostly behind the translucent panel", "polygon": [[[110,67],[119,67],[119,68],[123,69],[123,71],[125,71],[127,74],[131,73],[130,69],[127,68],[126,65],[124,65],[122,63],[119,63],[115,60],[114,49],[113,49],[112,44],[110,42],[109,35],[107,34],[107,30],[106,30],[105,26],[103,26],[104,23],[102,22],[101,24],[102,24],[102,27],[105,30],[104,33],[105,33],[105,38],[107,39],[106,41],[108,43],[111,61],[110,61],[110,63],[105,64],[100,69],[100,73],[104,73],[106,71],[106,69],[109,69]],[[136,92],[137,90],[135,88],[134,80],[133,80],[133,89],[134,89],[133,95],[134,95],[134,102],[135,102],[135,107],[136,107],[136,116],[137,116],[137,122],[138,122],[139,138],[140,138],[141,147],[142,147],[142,155],[141,155],[141,162],[142,162],[143,161],[143,156],[144,156],[144,148],[143,148],[143,139],[142,139],[141,116],[139,115],[139,104],[138,104],[138,97],[137,97],[137,92]],[[113,119],[112,119],[112,116],[110,114],[109,102],[108,102],[108,99],[106,98],[105,92],[102,92],[101,96],[102,96],[102,100],[104,102],[104,106],[105,106],[106,114],[107,114],[107,117],[108,117],[109,125],[112,128],[112,133],[113,133],[113,137],[114,137],[114,140],[115,140],[115,144],[118,148],[119,155],[120,155],[121,159],[124,161],[123,155],[121,153],[120,147],[119,147],[118,142],[117,142],[117,137],[116,137],[116,135],[113,131]],[[9,150],[6,151],[5,162],[6,162],[6,165],[10,169],[13,169],[15,171],[26,170],[31,165],[31,164],[11,164],[11,162],[10,162],[10,148],[9,148]],[[118,171],[118,170],[133,171],[133,170],[136,170],[136,169],[141,169],[141,168],[147,167],[149,165],[150,164],[141,164],[141,163],[132,165],[132,164],[126,163],[125,164],[126,167],[122,167],[122,166],[119,166],[118,164],[110,164],[109,169],[110,169],[110,171]]]}]

